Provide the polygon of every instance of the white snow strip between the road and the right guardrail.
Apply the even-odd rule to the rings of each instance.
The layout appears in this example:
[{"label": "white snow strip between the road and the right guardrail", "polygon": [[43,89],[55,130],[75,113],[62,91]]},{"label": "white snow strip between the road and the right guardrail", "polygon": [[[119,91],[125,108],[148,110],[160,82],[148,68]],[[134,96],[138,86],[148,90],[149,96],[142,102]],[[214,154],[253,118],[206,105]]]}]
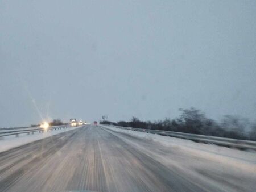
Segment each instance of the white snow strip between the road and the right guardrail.
[{"label": "white snow strip between the road and the right guardrail", "polygon": [[176,137],[132,130],[122,130],[112,126],[104,125],[102,127],[142,139],[152,140],[166,147],[178,149],[181,153],[190,154],[209,161],[234,166],[236,168],[246,170],[247,172],[256,173],[256,153],[253,151],[241,151],[239,149],[232,149],[214,144],[196,143],[191,140],[179,139]]}]

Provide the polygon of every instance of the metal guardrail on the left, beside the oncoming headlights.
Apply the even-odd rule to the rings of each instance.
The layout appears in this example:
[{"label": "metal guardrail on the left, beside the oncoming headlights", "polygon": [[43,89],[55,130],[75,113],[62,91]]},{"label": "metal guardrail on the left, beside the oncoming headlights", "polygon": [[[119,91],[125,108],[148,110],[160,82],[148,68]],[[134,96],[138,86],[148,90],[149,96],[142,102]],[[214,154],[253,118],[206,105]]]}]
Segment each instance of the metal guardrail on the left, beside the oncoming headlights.
[{"label": "metal guardrail on the left, beside the oncoming headlights", "polygon": [[33,135],[34,132],[48,132],[48,131],[53,131],[53,130],[62,130],[66,129],[71,126],[54,126],[54,127],[49,127],[47,129],[44,128],[33,128],[33,129],[26,129],[26,130],[15,130],[15,131],[5,131],[5,132],[0,132],[0,140],[3,140],[5,136],[11,136],[15,135],[15,137],[19,137],[20,134],[27,134],[27,135]]}]

